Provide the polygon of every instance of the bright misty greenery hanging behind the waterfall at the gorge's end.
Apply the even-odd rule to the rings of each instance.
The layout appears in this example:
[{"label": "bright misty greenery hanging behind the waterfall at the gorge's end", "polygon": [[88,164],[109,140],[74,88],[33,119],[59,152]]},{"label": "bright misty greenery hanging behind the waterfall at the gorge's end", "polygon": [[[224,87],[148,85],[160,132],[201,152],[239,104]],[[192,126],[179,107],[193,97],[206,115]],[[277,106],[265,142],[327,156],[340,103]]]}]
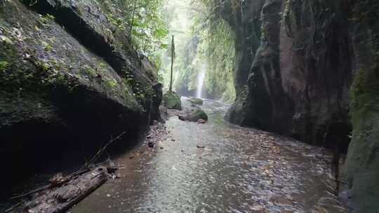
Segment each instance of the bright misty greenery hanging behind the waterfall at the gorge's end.
[{"label": "bright misty greenery hanging behind the waterfall at the gorge's end", "polygon": [[[215,8],[218,8],[216,1],[197,0],[183,4],[181,2],[170,8],[171,11],[175,11],[175,7],[188,8],[187,20],[180,20],[180,15],[173,15],[171,22],[178,19],[189,22],[188,29],[178,34],[175,90],[195,90],[199,72],[206,69],[206,91],[215,98],[234,101],[234,31],[215,13]],[[183,12],[180,10],[178,13]],[[179,30],[176,25],[174,27],[172,31]],[[169,76],[166,74],[164,78]]]}]

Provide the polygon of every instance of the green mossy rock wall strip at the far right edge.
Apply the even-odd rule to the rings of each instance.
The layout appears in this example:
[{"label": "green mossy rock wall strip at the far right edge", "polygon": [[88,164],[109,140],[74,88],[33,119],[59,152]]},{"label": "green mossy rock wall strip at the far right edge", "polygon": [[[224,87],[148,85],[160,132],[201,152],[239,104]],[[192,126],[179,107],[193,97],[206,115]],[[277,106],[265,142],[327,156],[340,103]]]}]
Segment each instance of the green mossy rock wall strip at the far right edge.
[{"label": "green mossy rock wall strip at the far right edge", "polygon": [[343,177],[359,211],[373,213],[379,209],[379,3],[356,1],[351,8],[353,132]]}]

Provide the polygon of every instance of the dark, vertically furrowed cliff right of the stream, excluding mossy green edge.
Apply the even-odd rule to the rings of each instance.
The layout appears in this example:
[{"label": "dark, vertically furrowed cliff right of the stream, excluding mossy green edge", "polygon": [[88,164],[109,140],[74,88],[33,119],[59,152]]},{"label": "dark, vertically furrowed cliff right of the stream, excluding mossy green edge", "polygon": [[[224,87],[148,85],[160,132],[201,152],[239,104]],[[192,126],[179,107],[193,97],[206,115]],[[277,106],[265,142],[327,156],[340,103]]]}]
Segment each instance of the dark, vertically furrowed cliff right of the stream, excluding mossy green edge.
[{"label": "dark, vertically furrowed cliff right of the stream, excluding mossy green edge", "polygon": [[323,144],[333,123],[350,123],[351,45],[340,3],[267,0],[251,13],[262,21],[260,46],[248,95],[229,112],[243,116],[228,121],[312,144]]}]

